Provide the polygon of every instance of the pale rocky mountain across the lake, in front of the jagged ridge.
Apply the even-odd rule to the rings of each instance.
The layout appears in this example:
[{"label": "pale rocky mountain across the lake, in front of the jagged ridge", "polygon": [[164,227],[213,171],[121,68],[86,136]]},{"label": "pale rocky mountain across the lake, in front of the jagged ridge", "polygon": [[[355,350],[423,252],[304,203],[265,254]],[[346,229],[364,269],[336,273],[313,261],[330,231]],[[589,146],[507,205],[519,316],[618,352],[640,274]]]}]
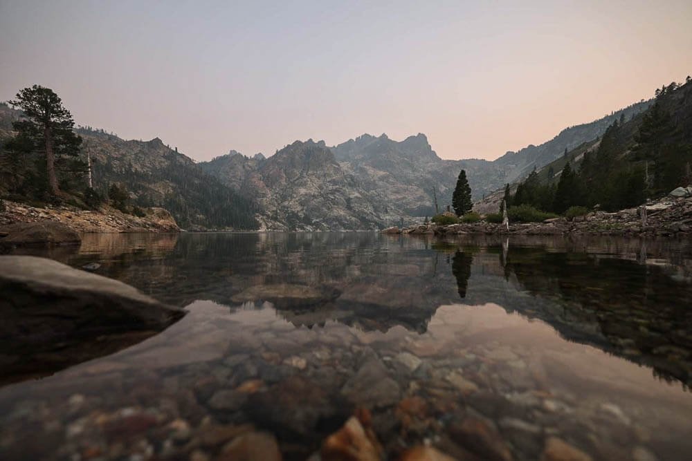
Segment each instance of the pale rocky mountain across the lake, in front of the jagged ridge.
[{"label": "pale rocky mountain across the lake, in front of the jagged ridge", "polygon": [[377,229],[388,216],[324,142],[296,141],[266,159],[232,151],[199,166],[257,200],[263,229]]}]

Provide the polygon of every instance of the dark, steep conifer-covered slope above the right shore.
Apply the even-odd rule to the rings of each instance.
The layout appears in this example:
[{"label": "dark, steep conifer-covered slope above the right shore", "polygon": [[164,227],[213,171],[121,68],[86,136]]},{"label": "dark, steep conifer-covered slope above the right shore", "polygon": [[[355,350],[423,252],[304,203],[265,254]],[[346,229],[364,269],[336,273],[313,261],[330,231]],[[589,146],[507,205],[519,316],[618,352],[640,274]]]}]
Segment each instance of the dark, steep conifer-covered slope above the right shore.
[{"label": "dark, steep conifer-covered slope above the right shore", "polygon": [[692,183],[692,81],[657,89],[643,113],[623,114],[603,136],[533,171],[510,205],[563,213],[574,206],[614,211]]}]

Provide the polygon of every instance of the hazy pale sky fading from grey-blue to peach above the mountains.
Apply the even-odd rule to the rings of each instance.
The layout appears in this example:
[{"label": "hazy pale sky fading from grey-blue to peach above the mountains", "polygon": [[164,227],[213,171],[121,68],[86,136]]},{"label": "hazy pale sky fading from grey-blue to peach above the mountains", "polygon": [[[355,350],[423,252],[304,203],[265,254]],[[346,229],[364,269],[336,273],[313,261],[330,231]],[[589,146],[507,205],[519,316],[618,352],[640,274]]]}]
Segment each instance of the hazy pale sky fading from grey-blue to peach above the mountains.
[{"label": "hazy pale sky fading from grey-blue to peach above the mountains", "polygon": [[0,100],[197,160],[426,133],[494,159],[692,73],[692,1],[0,0]]}]

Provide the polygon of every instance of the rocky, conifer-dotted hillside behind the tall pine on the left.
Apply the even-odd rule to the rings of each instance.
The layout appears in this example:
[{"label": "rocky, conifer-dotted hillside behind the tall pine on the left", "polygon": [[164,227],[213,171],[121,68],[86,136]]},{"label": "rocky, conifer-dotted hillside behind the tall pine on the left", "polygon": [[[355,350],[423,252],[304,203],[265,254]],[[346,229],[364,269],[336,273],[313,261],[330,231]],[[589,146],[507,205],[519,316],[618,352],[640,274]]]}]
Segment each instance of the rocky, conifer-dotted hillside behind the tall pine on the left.
[{"label": "rocky, conifer-dotted hillside behind the tall pine on the left", "polygon": [[[4,178],[0,193],[15,200],[41,201],[32,194],[30,182],[41,182],[42,153],[15,153],[8,149],[12,122],[21,113],[0,106],[0,175]],[[80,127],[75,130],[82,138],[80,159],[91,160],[93,189],[100,200],[109,196],[112,185],[123,191],[124,199],[138,207],[164,207],[183,228],[257,229],[257,207],[252,200],[240,196],[202,171],[194,161],[163,142],[122,140],[116,135]],[[78,171],[71,179],[78,182],[69,189],[76,203],[89,202],[86,171]],[[89,194],[86,194],[89,195]]]}]

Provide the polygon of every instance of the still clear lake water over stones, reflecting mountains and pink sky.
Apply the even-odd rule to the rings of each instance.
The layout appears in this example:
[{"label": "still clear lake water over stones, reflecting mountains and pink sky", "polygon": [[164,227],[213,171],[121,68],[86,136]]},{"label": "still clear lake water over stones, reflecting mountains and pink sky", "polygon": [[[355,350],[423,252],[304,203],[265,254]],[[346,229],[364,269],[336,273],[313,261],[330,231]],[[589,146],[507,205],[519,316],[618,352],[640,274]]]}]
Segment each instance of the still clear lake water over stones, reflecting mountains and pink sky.
[{"label": "still clear lake water over stones, reflecting mountains and pink sky", "polygon": [[110,355],[4,372],[2,460],[246,459],[239,440],[319,460],[363,409],[392,460],[420,444],[458,460],[692,453],[689,241],[93,234],[24,252],[188,314]]}]

